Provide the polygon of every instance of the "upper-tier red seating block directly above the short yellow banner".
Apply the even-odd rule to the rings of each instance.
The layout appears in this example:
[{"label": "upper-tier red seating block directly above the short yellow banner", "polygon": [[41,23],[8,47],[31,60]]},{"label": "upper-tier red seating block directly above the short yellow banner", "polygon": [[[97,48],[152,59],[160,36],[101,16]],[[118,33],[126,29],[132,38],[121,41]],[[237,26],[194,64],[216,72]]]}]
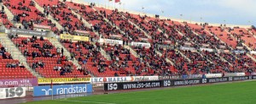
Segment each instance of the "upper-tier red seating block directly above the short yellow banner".
[{"label": "upper-tier red seating block directly above the short yellow banner", "polygon": [[51,14],[51,16],[61,24],[64,31],[73,35],[75,34],[74,30],[92,31],[90,28],[86,27],[80,19],[78,19],[77,15],[72,13],[71,8],[67,7],[66,3],[62,3],[59,0],[35,1],[44,8],[45,13]]}]

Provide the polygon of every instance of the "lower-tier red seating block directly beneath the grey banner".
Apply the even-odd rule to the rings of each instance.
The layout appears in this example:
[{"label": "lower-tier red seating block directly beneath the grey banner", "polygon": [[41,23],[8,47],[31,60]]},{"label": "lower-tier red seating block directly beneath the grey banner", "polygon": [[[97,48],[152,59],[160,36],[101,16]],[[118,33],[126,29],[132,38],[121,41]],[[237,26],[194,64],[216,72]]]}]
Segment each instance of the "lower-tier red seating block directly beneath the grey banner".
[{"label": "lower-tier red seating block directly beneath the grey banner", "polygon": [[26,56],[31,68],[46,78],[83,77],[78,68],[63,56],[60,48],[55,48],[47,39],[37,36],[14,37],[12,39]]}]

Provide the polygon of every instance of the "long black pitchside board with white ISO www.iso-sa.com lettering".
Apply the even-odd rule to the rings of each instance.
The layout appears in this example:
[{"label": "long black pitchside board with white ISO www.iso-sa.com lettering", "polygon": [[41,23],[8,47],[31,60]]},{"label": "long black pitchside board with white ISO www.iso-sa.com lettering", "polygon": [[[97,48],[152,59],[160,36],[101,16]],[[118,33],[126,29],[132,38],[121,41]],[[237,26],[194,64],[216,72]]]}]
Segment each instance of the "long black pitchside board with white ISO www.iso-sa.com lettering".
[{"label": "long black pitchside board with white ISO www.iso-sa.com lettering", "polygon": [[222,78],[207,78],[207,79],[164,79],[154,81],[135,81],[135,82],[119,82],[119,83],[105,83],[104,90],[134,90],[143,88],[157,88],[157,87],[172,87],[179,85],[200,85],[219,82],[239,81],[247,79],[256,79],[256,76],[235,76]]}]

